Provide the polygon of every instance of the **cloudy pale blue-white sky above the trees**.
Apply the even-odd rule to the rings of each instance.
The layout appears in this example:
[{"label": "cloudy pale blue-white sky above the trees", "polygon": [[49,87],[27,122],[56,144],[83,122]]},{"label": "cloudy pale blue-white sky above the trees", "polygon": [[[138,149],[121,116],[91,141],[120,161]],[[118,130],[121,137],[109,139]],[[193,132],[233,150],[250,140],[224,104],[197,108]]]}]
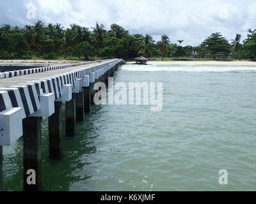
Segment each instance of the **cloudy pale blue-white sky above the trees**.
[{"label": "cloudy pale blue-white sky above the trees", "polygon": [[167,34],[172,42],[198,45],[214,32],[228,40],[236,33],[246,38],[249,28],[256,29],[255,11],[255,0],[0,0],[0,24],[23,26],[40,19],[63,27],[99,22],[109,29],[116,23],[156,41]]}]

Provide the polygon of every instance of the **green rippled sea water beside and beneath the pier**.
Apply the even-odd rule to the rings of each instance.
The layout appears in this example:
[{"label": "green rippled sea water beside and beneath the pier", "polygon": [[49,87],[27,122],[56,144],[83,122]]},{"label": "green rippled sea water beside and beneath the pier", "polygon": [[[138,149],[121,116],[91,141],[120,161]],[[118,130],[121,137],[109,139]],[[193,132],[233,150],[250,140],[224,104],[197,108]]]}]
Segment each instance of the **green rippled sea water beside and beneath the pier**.
[{"label": "green rippled sea water beside and beneath the pier", "polygon": [[[48,158],[43,119],[44,190],[256,190],[256,68],[125,65],[117,82],[163,82],[163,110],[93,106],[76,137],[63,136],[61,159]],[[22,138],[3,150],[4,191],[21,191]]]}]

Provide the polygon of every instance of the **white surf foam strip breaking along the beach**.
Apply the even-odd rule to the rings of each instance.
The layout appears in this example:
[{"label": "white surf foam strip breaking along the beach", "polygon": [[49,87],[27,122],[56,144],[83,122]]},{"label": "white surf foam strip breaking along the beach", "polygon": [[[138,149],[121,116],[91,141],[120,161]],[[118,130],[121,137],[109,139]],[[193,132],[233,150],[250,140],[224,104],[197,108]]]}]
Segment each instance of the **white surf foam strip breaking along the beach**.
[{"label": "white surf foam strip breaking along the beach", "polygon": [[127,71],[194,71],[194,72],[250,72],[255,73],[253,66],[175,66],[175,65],[135,65],[129,64],[122,67]]}]

